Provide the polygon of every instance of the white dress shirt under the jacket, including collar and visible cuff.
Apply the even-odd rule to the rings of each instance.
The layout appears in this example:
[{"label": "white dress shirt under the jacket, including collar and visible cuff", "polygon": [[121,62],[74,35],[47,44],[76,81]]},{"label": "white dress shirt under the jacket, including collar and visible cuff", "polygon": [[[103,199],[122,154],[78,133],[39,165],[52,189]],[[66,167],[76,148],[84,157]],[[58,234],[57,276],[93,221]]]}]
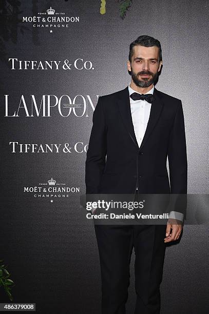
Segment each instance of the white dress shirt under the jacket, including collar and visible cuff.
[{"label": "white dress shirt under the jacket, including collar and visible cuff", "polygon": [[[128,91],[129,95],[132,93],[139,93],[138,91],[132,89],[130,87],[130,84],[128,85]],[[154,86],[151,88],[148,92],[145,94],[153,94],[154,92]],[[130,100],[130,111],[132,116],[132,123],[134,125],[134,131],[137,139],[137,143],[139,147],[141,146],[144,133],[146,131],[147,123],[149,120],[149,114],[151,109],[151,104],[148,103],[145,100],[132,100],[131,97],[129,97]],[[183,221],[183,214],[178,211],[170,211],[169,218],[174,218]]]}]

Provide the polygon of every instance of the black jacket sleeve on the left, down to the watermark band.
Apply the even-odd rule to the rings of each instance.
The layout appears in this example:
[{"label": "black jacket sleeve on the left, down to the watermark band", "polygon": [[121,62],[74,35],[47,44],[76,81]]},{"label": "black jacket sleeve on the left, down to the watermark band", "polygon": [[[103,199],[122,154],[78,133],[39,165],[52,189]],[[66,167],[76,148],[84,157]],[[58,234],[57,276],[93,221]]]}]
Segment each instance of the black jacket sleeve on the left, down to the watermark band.
[{"label": "black jacket sleeve on the left, down to the watermark band", "polygon": [[93,126],[86,155],[86,194],[97,194],[106,162],[106,125],[101,96],[93,112]]}]

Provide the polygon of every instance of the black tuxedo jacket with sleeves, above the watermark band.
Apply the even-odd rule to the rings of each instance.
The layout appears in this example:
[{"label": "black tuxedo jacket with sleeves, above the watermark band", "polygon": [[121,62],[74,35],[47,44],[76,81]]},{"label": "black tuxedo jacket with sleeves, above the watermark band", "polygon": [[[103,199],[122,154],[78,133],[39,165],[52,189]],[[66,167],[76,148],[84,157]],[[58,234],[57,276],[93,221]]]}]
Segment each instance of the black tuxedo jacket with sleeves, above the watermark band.
[{"label": "black tuxedo jacket with sleeves, above the watermark band", "polygon": [[86,194],[134,194],[137,186],[139,193],[187,192],[182,103],[156,88],[154,96],[140,147],[128,87],[99,97],[86,158]]}]

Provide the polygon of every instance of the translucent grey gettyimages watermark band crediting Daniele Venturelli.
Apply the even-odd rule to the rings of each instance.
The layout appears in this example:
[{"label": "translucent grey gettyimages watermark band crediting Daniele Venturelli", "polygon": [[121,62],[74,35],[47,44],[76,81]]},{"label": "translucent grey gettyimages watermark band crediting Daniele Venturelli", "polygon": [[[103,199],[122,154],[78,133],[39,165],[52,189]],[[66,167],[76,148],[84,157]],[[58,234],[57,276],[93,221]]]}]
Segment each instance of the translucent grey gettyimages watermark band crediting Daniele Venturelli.
[{"label": "translucent grey gettyimages watermark band crediting Daniele Venturelli", "polygon": [[85,194],[80,202],[94,224],[209,225],[209,194]]}]

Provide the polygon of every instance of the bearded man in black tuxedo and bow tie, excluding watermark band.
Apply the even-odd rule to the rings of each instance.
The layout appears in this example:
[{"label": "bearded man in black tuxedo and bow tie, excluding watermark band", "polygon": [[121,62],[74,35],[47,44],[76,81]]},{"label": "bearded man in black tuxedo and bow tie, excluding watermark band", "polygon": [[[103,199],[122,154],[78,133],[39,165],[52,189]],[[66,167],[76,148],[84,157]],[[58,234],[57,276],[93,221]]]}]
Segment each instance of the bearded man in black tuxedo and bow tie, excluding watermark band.
[{"label": "bearded man in black tuxedo and bow tie, excluding watermark band", "polygon": [[[182,103],[155,88],[161,67],[158,40],[142,35],[130,44],[130,84],[100,96],[93,113],[86,158],[86,194],[135,194],[135,200],[141,193],[186,194]],[[165,246],[180,237],[180,211],[170,211],[167,225],[94,226],[101,265],[102,314],[125,313],[133,247],[135,314],[160,312]]]}]

